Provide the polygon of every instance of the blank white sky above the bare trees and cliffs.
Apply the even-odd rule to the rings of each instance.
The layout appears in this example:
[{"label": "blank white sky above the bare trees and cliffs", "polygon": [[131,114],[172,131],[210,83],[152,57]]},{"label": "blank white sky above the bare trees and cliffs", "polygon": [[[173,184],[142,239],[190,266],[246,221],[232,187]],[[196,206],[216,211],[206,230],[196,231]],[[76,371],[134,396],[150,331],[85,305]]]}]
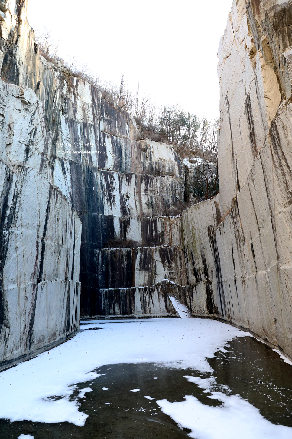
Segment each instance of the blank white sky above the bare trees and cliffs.
[{"label": "blank white sky above the bare trees and cliffs", "polygon": [[232,0],[28,0],[34,29],[60,40],[61,57],[76,56],[102,79],[150,94],[200,117],[219,116],[217,50]]}]

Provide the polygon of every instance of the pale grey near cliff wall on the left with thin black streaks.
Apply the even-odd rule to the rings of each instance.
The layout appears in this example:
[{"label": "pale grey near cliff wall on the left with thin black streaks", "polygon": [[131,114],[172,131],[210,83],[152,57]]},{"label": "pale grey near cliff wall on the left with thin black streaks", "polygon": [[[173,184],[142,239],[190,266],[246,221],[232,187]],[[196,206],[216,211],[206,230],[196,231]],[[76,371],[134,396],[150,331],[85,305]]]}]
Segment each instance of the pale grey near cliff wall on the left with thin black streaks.
[{"label": "pale grey near cliff wall on the left with thin black streaks", "polygon": [[51,131],[24,79],[25,5],[6,7],[1,75],[14,84],[0,80],[0,368],[76,334],[80,315],[81,221],[53,184]]}]

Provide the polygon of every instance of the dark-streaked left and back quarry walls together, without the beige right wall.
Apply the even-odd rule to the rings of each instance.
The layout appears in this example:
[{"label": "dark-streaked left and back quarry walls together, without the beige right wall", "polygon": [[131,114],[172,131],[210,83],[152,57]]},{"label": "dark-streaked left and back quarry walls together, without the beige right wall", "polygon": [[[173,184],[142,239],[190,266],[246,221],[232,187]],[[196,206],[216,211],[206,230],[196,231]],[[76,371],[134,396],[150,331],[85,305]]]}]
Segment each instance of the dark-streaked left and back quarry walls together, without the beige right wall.
[{"label": "dark-streaked left and back quarry walls together, without the beige right wall", "polygon": [[0,13],[4,365],[74,334],[80,297],[82,316],[177,316],[185,282],[176,152],[42,58],[26,7]]}]

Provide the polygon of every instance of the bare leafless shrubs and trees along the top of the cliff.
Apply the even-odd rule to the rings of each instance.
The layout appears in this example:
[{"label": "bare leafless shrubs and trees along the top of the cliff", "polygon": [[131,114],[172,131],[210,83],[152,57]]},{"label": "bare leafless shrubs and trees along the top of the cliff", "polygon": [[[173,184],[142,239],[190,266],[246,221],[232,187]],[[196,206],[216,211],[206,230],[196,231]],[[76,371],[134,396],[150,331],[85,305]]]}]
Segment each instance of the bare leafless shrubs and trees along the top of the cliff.
[{"label": "bare leafless shrubs and trees along the top of the cliff", "polygon": [[48,29],[36,32],[35,39],[40,55],[60,67],[64,75],[80,78],[97,87],[103,99],[132,115],[144,138],[164,141],[175,147],[186,166],[185,201],[189,201],[190,194],[193,202],[200,202],[218,193],[218,120],[214,123],[206,118],[200,120],[196,114],[185,112],[179,103],[158,109],[151,103],[149,95],[140,93],[139,85],[135,93],[127,88],[124,74],[120,84],[102,82],[75,57],[69,62],[59,58],[59,41],[53,40]]}]

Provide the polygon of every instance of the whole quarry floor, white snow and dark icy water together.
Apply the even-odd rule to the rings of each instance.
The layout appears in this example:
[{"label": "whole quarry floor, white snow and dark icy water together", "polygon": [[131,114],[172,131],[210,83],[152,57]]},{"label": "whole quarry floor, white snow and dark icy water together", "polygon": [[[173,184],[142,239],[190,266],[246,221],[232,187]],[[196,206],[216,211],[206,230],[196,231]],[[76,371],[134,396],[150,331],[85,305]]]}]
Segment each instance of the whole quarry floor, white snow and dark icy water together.
[{"label": "whole quarry floor, white snow and dark icy water together", "polygon": [[248,333],[193,318],[84,323],[0,373],[1,439],[292,439],[292,367]]}]

